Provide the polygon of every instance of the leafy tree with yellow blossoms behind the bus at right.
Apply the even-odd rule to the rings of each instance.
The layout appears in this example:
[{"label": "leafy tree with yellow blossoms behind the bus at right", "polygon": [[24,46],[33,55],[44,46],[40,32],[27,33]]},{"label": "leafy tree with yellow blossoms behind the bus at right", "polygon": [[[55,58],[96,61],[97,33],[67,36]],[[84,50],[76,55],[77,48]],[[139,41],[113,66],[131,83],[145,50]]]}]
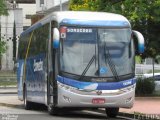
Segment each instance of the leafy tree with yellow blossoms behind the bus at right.
[{"label": "leafy tree with yellow blossoms behind the bus at right", "polygon": [[71,0],[70,9],[124,15],[133,29],[145,37],[146,50],[142,57],[156,58],[160,55],[160,0]]}]

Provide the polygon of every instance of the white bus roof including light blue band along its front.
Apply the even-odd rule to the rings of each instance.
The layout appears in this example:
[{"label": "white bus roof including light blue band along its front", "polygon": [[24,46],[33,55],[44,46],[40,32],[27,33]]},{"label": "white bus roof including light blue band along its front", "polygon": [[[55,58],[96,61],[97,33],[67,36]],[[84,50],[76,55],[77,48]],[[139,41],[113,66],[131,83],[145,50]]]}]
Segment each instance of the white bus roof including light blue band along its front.
[{"label": "white bus roof including light blue band along its front", "polygon": [[[59,11],[53,12],[42,20],[38,21],[21,35],[31,32],[32,30],[55,20],[59,24],[72,24],[72,25],[91,25],[91,26],[127,26],[131,27],[129,21],[122,15],[107,13],[107,12],[87,12],[87,11]],[[98,21],[98,22],[97,22]]]}]

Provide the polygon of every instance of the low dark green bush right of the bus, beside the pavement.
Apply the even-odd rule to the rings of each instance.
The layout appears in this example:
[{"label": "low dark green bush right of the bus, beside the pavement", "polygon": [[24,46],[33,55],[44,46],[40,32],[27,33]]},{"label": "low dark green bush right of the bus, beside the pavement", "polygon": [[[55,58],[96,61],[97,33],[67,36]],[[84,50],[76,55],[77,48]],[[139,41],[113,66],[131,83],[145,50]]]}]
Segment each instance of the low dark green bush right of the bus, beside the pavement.
[{"label": "low dark green bush right of the bus, beside the pavement", "polygon": [[155,82],[152,78],[138,78],[136,85],[136,95],[151,95],[155,90]]}]

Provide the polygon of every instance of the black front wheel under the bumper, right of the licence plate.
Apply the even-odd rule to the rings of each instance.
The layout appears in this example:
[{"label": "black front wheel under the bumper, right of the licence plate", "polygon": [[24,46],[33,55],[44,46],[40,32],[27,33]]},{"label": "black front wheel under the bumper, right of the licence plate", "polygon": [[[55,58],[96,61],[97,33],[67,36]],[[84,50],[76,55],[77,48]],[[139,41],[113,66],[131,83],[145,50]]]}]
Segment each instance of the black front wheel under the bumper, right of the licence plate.
[{"label": "black front wheel under the bumper, right of the licence plate", "polygon": [[115,118],[118,115],[119,108],[106,108],[106,114],[108,117]]}]

